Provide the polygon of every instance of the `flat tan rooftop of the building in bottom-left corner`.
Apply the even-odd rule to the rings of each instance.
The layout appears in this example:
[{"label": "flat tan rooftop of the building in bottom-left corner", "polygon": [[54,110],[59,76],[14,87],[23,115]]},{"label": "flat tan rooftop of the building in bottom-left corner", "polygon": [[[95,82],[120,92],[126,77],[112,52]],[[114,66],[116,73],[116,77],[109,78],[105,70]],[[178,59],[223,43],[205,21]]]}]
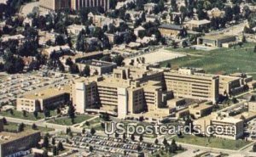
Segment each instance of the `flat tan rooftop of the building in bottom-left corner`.
[{"label": "flat tan rooftop of the building in bottom-left corner", "polygon": [[33,133],[36,133],[38,131],[33,131],[33,130],[26,130],[23,132],[0,132],[0,144],[3,143],[9,143],[10,141],[14,141],[16,139],[19,139],[21,137],[26,137],[29,136]]}]

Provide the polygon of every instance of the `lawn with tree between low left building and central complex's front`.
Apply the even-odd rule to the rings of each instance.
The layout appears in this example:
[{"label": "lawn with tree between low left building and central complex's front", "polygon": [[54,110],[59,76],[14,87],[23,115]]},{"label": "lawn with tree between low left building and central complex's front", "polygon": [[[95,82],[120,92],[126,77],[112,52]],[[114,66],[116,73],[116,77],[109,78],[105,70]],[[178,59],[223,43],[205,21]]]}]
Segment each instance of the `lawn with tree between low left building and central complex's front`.
[{"label": "lawn with tree between low left building and central complex's front", "polygon": [[74,124],[78,124],[83,121],[87,121],[90,118],[92,118],[92,116],[90,116],[90,115],[76,115],[76,117],[74,118],[74,123],[72,123],[70,118],[58,118],[55,120],[50,120],[48,122],[54,123],[54,124],[66,125],[66,126],[73,126]]}]

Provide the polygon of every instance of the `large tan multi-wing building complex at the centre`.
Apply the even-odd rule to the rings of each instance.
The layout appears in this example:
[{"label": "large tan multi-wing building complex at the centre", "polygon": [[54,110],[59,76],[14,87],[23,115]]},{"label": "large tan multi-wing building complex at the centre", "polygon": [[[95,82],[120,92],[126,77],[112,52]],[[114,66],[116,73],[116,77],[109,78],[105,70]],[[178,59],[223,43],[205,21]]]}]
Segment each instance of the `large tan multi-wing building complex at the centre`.
[{"label": "large tan multi-wing building complex at the centre", "polygon": [[[182,98],[214,104],[224,91],[239,93],[246,78],[207,75],[191,68],[169,70],[147,65],[125,66],[113,69],[111,76],[75,79],[70,93],[79,113],[96,109],[120,118],[140,115],[161,119],[175,114],[177,105],[184,104]],[[212,105],[194,104],[178,112],[179,115],[190,112],[199,118],[210,114]]]}]

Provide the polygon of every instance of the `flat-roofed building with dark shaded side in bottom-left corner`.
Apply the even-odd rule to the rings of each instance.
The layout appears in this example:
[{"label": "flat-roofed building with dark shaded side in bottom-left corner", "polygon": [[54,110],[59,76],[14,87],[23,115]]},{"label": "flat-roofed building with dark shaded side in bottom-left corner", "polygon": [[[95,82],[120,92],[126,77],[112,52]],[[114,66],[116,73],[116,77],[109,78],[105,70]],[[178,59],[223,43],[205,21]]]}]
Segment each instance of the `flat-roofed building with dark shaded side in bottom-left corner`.
[{"label": "flat-roofed building with dark shaded side in bottom-left corner", "polygon": [[22,151],[32,149],[41,139],[40,132],[0,132],[0,156],[19,156]]}]

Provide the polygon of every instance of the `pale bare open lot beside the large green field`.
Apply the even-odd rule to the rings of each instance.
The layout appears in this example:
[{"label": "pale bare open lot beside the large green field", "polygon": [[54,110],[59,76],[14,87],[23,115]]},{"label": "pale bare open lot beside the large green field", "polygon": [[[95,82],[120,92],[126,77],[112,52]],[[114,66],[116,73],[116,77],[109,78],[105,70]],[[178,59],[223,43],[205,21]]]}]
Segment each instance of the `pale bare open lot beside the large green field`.
[{"label": "pale bare open lot beside the large green field", "polygon": [[185,54],[182,53],[170,53],[169,51],[165,49],[159,49],[158,51],[152,52],[152,53],[145,53],[142,55],[138,55],[133,58],[125,59],[125,64],[129,64],[131,62],[131,59],[137,60],[138,58],[144,58],[146,64],[155,64],[164,62],[169,59],[177,59],[180,57],[185,56]]}]

